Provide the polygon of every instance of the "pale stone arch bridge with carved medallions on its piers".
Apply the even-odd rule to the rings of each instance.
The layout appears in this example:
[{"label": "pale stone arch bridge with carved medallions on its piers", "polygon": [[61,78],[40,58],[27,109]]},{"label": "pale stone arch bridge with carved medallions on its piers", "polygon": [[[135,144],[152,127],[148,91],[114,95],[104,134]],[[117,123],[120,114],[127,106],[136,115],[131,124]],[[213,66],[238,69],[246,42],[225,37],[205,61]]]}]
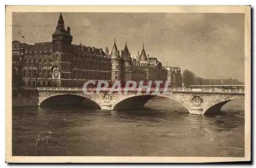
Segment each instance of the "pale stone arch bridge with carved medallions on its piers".
[{"label": "pale stone arch bridge with carved medallions on its piers", "polygon": [[[91,91],[96,89],[91,88]],[[127,94],[118,94],[109,91],[100,91],[99,94],[84,94],[82,88],[38,88],[38,105],[54,96],[73,95],[90,99],[97,103],[102,110],[137,109],[156,97],[165,97],[177,101],[184,106],[190,114],[209,115],[215,114],[221,107],[231,100],[244,99],[244,90],[221,89],[168,89],[169,94],[153,91],[146,93],[141,91],[129,91]]]}]

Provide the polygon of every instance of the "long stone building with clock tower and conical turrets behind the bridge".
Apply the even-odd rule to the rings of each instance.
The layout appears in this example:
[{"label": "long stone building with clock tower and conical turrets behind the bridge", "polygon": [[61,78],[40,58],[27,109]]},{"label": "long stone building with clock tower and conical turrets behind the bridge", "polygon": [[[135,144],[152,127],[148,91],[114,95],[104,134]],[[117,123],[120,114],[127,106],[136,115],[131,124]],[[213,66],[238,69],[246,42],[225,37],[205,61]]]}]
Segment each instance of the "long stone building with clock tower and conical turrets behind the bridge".
[{"label": "long stone building with clock tower and conical turrets behind the bridge", "polygon": [[165,68],[157,58],[150,58],[144,44],[141,53],[138,52],[134,59],[126,43],[123,50],[118,50],[114,40],[109,53],[108,47],[103,51],[102,48],[81,43],[75,45],[72,41],[71,28],[65,29],[62,14],[51,42],[29,45],[13,41],[13,87],[82,87],[90,79],[137,82],[169,80],[172,87],[181,86],[180,69]]}]

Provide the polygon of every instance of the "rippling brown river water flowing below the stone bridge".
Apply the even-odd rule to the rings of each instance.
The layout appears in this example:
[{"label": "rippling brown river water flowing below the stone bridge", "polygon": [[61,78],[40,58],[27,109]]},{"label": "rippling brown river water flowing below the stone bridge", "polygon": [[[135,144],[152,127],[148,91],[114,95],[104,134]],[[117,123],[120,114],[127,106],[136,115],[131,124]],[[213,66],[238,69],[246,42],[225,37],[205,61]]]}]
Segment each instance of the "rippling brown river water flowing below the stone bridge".
[{"label": "rippling brown river water flowing below the stone bridge", "polygon": [[221,110],[219,116],[189,115],[165,98],[113,114],[84,107],[13,108],[12,154],[244,157],[244,100]]}]

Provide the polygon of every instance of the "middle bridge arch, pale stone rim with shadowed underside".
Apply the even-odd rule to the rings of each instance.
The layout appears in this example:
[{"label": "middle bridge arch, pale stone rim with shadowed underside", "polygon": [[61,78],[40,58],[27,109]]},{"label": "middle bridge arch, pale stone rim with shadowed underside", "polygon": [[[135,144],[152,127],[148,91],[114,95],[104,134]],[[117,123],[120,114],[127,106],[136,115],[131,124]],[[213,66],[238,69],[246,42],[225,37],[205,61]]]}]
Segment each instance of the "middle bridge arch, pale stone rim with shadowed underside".
[{"label": "middle bridge arch, pale stone rim with shadowed underside", "polygon": [[189,103],[177,98],[174,94],[167,95],[167,94],[146,94],[146,93],[140,93],[140,94],[127,94],[120,96],[115,102],[112,103],[112,110],[115,109],[123,109],[123,107],[128,107],[128,109],[132,108],[141,108],[143,107],[146,102],[154,97],[165,97],[170,100],[174,100],[181,104],[183,107],[185,107],[187,110],[191,106]]}]

